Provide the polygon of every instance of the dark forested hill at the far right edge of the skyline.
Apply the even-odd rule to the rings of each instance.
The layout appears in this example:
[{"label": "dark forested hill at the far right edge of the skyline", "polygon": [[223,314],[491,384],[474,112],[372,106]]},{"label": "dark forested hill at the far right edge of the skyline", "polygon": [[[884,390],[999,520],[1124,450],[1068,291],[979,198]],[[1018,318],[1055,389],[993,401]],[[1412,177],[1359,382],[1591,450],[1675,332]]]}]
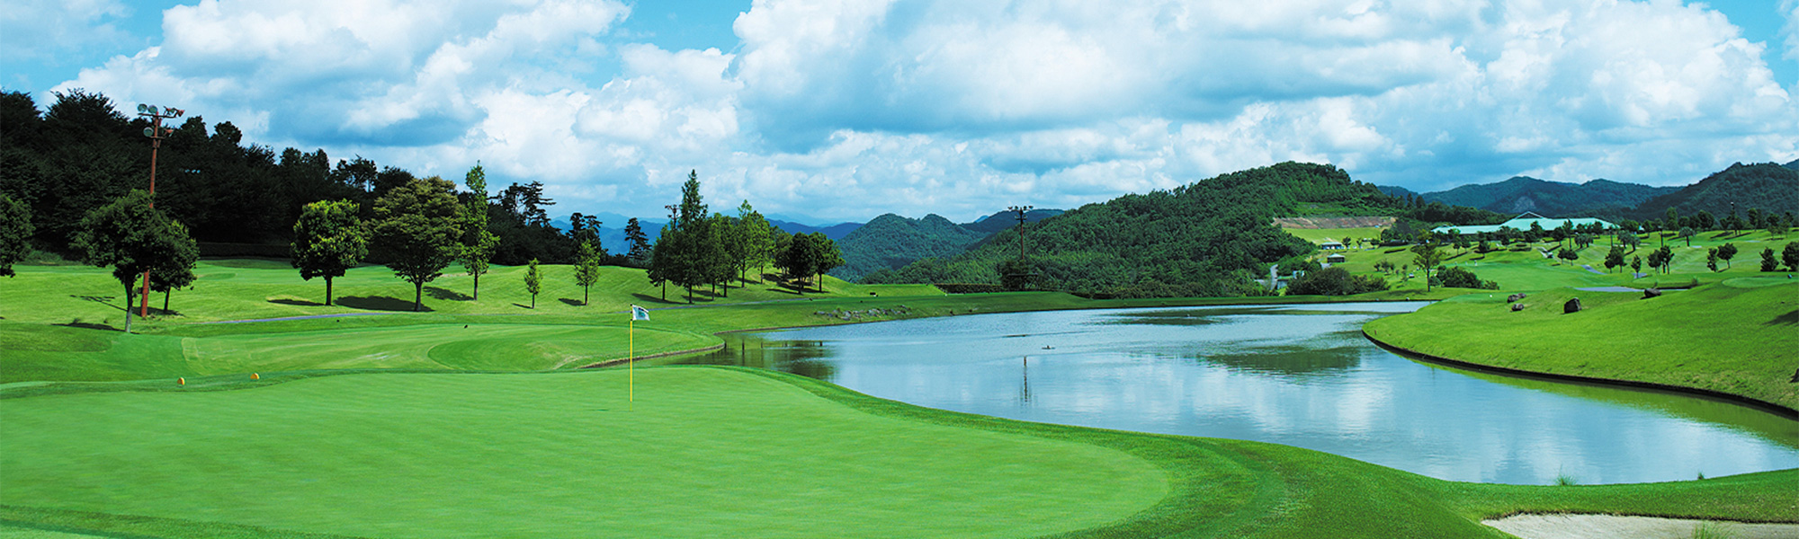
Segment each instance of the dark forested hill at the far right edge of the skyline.
[{"label": "dark forested hill at the far right edge of the skyline", "polygon": [[1772,214],[1799,212],[1799,171],[1777,163],[1734,163],[1698,183],[1648,199],[1630,216],[1655,219],[1675,208],[1686,216],[1705,210],[1723,217],[1731,214],[1731,203],[1736,203],[1740,214],[1747,214],[1749,208]]}]

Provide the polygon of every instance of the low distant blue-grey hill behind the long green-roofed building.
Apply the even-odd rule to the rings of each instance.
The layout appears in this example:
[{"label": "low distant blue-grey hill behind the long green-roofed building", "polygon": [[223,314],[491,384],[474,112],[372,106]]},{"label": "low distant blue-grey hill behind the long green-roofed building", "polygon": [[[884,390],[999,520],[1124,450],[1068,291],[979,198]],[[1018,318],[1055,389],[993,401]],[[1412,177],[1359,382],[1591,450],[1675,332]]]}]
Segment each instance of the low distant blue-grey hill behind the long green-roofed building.
[{"label": "low distant blue-grey hill behind the long green-roofed building", "polygon": [[1499,183],[1472,183],[1450,190],[1428,192],[1427,201],[1475,207],[1508,216],[1536,212],[1545,217],[1585,217],[1601,208],[1635,208],[1637,205],[1680,190],[1680,187],[1650,187],[1592,180],[1587,183],[1544,181],[1515,176]]}]

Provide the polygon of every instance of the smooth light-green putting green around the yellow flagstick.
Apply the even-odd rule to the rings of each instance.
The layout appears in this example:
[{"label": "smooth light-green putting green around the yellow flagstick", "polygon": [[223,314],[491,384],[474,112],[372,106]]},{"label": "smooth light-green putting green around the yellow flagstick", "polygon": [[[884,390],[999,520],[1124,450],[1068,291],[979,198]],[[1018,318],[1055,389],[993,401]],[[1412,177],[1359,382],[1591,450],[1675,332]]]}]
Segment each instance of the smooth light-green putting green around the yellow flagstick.
[{"label": "smooth light-green putting green around the yellow flagstick", "polygon": [[[723,368],[358,374],[5,399],[0,503],[369,537],[1024,537],[1132,517],[1155,464],[874,415]],[[104,521],[104,517],[101,517]]]}]

